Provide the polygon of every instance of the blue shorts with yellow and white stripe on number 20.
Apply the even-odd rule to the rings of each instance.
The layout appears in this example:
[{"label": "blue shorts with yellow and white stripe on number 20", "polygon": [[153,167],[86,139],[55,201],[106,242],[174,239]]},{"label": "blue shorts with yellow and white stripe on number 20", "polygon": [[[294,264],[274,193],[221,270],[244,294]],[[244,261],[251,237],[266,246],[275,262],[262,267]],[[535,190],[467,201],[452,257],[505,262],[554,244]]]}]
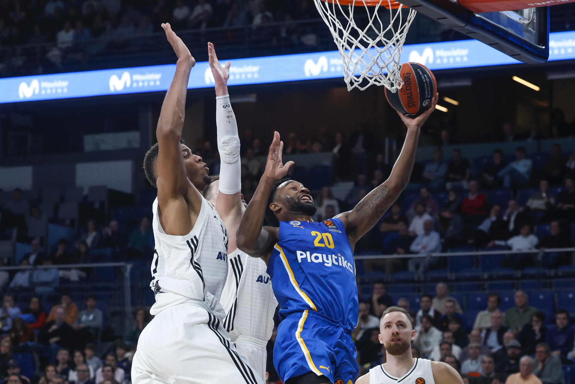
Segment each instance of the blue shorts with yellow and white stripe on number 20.
[{"label": "blue shorts with yellow and white stripe on number 20", "polygon": [[305,310],[289,314],[279,323],[274,345],[274,366],[283,382],[313,372],[332,383],[354,383],[359,375],[351,329]]}]

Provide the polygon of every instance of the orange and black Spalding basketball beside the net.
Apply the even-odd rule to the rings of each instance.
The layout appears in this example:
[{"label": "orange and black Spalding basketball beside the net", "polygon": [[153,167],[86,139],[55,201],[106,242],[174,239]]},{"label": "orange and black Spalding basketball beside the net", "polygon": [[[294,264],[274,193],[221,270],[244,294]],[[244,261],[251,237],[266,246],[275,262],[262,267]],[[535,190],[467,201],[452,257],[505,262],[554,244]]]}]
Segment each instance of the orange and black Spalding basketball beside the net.
[{"label": "orange and black Spalding basketball beside the net", "polygon": [[401,64],[400,74],[403,86],[396,93],[385,89],[385,97],[398,112],[411,117],[419,116],[431,106],[437,91],[435,76],[418,63]]}]

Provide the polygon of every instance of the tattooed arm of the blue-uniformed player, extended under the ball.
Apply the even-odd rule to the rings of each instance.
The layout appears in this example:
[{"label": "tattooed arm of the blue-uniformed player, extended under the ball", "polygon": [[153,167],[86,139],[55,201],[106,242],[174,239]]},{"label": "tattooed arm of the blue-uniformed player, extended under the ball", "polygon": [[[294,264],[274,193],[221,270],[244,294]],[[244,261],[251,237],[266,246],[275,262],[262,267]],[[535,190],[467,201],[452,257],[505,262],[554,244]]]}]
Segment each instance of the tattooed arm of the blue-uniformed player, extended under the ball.
[{"label": "tattooed arm of the blue-uniformed player, extended under the ball", "polygon": [[407,136],[405,136],[403,148],[389,178],[367,194],[354,209],[336,216],[342,220],[346,227],[347,237],[352,247],[367,231],[373,228],[407,186],[415,162],[420,128],[435,110],[438,97],[439,94],[435,94],[429,109],[416,118],[398,112],[401,120],[407,126]]}]

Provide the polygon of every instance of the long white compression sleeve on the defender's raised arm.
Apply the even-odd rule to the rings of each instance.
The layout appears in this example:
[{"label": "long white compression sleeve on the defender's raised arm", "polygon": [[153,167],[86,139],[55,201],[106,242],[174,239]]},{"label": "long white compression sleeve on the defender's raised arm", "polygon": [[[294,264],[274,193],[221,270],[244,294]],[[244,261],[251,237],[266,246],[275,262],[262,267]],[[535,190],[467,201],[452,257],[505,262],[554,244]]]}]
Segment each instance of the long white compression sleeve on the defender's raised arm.
[{"label": "long white compression sleeve on the defender's raised arm", "polygon": [[236,116],[229,95],[216,97],[217,149],[220,152],[221,193],[233,195],[241,191],[240,138]]}]

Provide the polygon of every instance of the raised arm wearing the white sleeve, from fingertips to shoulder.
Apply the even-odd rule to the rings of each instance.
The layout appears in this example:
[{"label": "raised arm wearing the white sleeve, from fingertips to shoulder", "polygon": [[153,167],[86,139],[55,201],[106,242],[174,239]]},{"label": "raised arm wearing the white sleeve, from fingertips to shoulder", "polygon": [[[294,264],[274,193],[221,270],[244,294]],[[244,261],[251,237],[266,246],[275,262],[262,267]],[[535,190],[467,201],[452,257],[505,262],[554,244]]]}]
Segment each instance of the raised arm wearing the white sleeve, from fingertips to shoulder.
[{"label": "raised arm wearing the white sleeve, from fingertips to shoulder", "polygon": [[217,149],[220,152],[220,186],[216,198],[216,210],[228,229],[229,253],[237,248],[236,229],[245,210],[241,202],[240,138],[228,94],[231,63],[220,65],[212,43],[208,43],[208,56],[216,83]]}]

